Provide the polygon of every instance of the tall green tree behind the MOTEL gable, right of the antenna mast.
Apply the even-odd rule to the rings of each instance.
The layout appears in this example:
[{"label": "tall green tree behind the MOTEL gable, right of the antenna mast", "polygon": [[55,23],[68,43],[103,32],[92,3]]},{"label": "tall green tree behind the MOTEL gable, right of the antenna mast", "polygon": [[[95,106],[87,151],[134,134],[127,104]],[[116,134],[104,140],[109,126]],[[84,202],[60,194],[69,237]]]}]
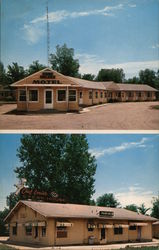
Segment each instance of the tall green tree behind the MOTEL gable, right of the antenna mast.
[{"label": "tall green tree behind the MOTEL gable, right of the antenna mast", "polygon": [[50,55],[51,67],[61,74],[76,77],[79,70],[79,61],[74,59],[74,49],[66,44],[56,46],[56,53]]}]

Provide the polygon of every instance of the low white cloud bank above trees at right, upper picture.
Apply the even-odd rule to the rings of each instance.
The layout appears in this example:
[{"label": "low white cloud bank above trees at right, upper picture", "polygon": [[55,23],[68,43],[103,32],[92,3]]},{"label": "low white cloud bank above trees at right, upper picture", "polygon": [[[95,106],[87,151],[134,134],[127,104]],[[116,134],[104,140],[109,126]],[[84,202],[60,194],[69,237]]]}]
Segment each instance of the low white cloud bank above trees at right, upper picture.
[{"label": "low white cloud bank above trees at right, upper picture", "polygon": [[97,55],[92,54],[76,54],[80,61],[80,73],[92,73],[97,75],[98,71],[102,68],[122,68],[125,72],[126,78],[138,75],[140,70],[146,68],[157,70],[159,68],[159,61],[140,61],[140,62],[123,62],[118,64],[107,64],[104,60],[100,59]]}]

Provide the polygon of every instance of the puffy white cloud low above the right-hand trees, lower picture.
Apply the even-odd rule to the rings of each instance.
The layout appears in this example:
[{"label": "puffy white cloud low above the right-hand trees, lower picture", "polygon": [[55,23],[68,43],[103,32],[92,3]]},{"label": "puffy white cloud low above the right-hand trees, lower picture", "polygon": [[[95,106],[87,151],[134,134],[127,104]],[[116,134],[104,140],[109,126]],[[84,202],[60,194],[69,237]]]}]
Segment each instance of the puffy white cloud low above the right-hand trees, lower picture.
[{"label": "puffy white cloud low above the right-hand trees, lower picture", "polygon": [[142,203],[145,206],[152,207],[152,198],[154,194],[151,190],[145,190],[140,186],[130,186],[123,192],[114,192],[115,197],[120,201],[122,206],[130,205],[132,203],[140,206]]}]

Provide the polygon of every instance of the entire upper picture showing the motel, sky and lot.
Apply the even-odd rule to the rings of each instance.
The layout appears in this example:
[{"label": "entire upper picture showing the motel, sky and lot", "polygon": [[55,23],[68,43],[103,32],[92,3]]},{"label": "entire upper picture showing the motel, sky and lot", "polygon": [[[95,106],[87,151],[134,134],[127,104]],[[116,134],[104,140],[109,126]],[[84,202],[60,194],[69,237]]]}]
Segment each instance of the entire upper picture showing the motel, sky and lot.
[{"label": "entire upper picture showing the motel, sky and lot", "polygon": [[0,131],[159,131],[158,0],[0,4]]}]

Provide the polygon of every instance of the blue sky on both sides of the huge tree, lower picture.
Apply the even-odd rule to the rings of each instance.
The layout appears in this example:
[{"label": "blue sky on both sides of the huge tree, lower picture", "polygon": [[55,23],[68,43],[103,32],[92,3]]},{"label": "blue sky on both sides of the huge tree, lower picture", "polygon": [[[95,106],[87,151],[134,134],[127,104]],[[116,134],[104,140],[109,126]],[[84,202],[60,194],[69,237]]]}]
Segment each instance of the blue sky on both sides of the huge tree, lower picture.
[{"label": "blue sky on both sides of the huge tree, lower picture", "polygon": [[[5,198],[15,191],[13,172],[19,166],[16,157],[20,134],[0,135],[0,209]],[[159,135],[156,134],[89,134],[90,152],[96,156],[96,192],[93,198],[113,192],[125,206],[145,203],[159,193]]]}]

